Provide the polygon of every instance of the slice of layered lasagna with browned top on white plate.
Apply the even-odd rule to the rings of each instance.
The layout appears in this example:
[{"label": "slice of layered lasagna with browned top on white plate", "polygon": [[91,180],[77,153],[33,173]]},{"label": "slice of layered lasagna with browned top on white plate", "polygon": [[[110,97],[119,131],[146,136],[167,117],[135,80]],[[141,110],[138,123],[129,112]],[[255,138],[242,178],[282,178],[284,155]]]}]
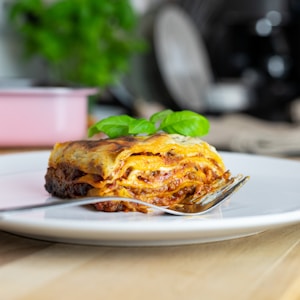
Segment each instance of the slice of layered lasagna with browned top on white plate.
[{"label": "slice of layered lasagna with browned top on white plate", "polygon": [[[211,191],[230,174],[215,148],[177,134],[57,143],[45,188],[53,196],[122,196],[169,206]],[[124,201],[97,203],[101,211],[146,211]]]}]

